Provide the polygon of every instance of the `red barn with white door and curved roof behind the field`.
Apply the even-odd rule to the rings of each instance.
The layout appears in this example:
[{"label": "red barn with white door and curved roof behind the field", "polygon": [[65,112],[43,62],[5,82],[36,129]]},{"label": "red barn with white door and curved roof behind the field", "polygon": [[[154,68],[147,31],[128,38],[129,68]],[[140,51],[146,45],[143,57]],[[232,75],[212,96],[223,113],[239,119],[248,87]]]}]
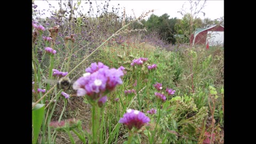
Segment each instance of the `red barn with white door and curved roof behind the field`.
[{"label": "red barn with white door and curved roof behind the field", "polygon": [[209,28],[199,28],[190,38],[190,43],[207,44],[209,45],[223,45],[224,43],[224,27],[221,25],[214,25]]}]

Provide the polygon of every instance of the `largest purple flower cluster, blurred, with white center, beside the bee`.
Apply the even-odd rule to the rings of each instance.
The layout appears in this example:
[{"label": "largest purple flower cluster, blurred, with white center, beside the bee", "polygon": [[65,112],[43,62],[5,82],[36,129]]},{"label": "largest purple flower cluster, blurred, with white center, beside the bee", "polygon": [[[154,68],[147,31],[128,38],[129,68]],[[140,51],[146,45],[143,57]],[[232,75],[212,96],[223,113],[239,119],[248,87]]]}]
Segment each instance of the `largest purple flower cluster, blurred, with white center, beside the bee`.
[{"label": "largest purple flower cluster, blurred, with white center, beside the bee", "polygon": [[111,68],[96,62],[91,67],[86,68],[83,77],[77,79],[73,84],[73,89],[77,90],[78,96],[88,95],[93,100],[101,97],[101,94],[114,90],[117,84],[122,84],[121,77],[124,75],[120,69]]}]

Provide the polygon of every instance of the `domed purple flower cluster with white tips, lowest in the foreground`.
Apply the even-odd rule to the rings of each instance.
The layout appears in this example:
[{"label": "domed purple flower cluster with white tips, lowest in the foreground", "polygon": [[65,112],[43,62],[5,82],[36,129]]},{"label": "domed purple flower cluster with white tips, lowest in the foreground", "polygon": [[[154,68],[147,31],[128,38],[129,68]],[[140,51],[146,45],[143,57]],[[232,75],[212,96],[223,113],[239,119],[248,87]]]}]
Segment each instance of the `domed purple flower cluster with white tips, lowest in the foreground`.
[{"label": "domed purple flower cluster with white tips, lowest in the foreground", "polygon": [[119,119],[119,123],[125,124],[129,130],[132,130],[133,127],[139,130],[143,125],[150,122],[149,117],[139,110],[127,109],[126,112],[127,113]]}]

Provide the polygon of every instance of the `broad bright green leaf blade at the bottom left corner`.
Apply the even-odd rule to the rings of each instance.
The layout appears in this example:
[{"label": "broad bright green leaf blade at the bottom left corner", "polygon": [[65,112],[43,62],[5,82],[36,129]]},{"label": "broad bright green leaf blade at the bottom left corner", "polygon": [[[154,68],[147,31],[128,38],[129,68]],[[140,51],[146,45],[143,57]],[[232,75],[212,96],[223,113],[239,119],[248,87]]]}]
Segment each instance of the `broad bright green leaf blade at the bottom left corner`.
[{"label": "broad bright green leaf blade at the bottom left corner", "polygon": [[[33,103],[34,104],[34,103]],[[37,103],[32,109],[32,124],[33,124],[33,143],[37,143],[37,138],[42,126],[44,118],[44,104]]]}]

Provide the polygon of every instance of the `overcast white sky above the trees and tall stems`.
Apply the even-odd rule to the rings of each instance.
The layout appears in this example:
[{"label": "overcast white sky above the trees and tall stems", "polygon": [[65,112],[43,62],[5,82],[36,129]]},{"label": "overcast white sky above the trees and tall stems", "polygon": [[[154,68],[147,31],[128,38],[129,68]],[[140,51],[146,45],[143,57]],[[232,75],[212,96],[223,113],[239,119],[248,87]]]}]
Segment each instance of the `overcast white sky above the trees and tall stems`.
[{"label": "overcast white sky above the trees and tall stems", "polygon": [[[59,9],[58,1],[48,1],[48,2],[52,6],[55,6],[55,8]],[[89,10],[89,4],[84,4],[85,2],[87,1],[82,1],[81,5],[85,5],[84,10],[86,13]],[[91,2],[92,2],[92,5],[96,5],[95,1],[91,1]],[[77,3],[77,1],[74,0],[73,3]],[[98,5],[100,3],[104,4],[105,1],[97,1]],[[36,8],[37,10],[49,9],[49,5],[46,1],[35,0],[35,4],[38,6]],[[182,9],[183,4],[185,4],[184,5],[185,9],[189,12],[188,1],[114,1],[114,0],[111,0],[109,2],[109,10],[111,10],[112,5],[114,5],[114,7],[118,7],[117,4],[120,4],[119,5],[120,9],[123,9],[123,7],[125,7],[127,15],[133,15],[133,12],[132,12],[132,9],[133,9],[136,17],[139,17],[142,12],[146,12],[148,10],[154,9],[156,10],[154,11],[155,15],[160,16],[164,13],[167,13],[170,15],[170,18],[177,17],[181,19],[182,15],[178,13],[178,11]],[[201,4],[203,4],[203,1],[201,2]],[[97,10],[97,9],[94,9],[94,10]],[[223,0],[222,1],[207,0],[206,6],[202,11],[205,12],[205,17],[203,13],[200,13],[198,17],[201,19],[210,18],[211,20],[214,20],[220,17],[224,17],[224,1]],[[50,14],[47,15],[47,17],[49,16]]]}]

